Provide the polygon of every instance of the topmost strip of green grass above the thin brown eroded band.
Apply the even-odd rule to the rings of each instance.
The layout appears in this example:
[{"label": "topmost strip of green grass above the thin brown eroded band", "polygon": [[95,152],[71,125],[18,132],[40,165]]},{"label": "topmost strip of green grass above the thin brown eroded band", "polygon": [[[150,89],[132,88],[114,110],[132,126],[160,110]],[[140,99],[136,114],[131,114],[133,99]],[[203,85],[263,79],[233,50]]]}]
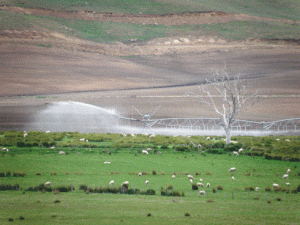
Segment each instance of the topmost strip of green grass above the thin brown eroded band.
[{"label": "topmost strip of green grass above the thin brown eroded band", "polygon": [[0,0],[1,5],[51,10],[86,10],[113,13],[166,14],[180,12],[223,11],[246,13],[255,16],[299,20],[298,0]]}]

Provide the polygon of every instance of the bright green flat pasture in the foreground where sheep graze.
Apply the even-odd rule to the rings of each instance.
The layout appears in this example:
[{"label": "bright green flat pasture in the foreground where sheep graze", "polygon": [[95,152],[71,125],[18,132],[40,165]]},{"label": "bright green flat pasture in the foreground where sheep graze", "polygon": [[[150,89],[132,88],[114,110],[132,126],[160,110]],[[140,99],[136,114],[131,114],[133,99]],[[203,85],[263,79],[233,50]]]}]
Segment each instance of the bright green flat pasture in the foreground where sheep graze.
[{"label": "bright green flat pasture in the foreground where sheep graze", "polygon": [[[185,158],[186,157],[186,158]],[[299,183],[295,166],[297,163],[285,161],[267,161],[257,157],[228,157],[227,155],[210,155],[206,157],[196,153],[164,153],[161,155],[150,154],[148,156],[133,153],[108,154],[71,154],[71,155],[38,155],[21,154],[15,156],[1,156],[0,171],[23,170],[27,172],[24,178],[4,177],[1,183],[19,183],[26,187],[51,181],[53,185],[75,185],[73,193],[32,193],[21,191],[1,192],[0,223],[9,223],[8,218],[18,221],[19,216],[24,216],[22,224],[198,224],[199,219],[204,224],[276,224],[296,222],[299,219],[299,194],[284,194],[282,192],[268,194],[272,203],[266,203],[266,192],[263,188],[278,182],[281,186],[284,181],[281,175],[287,168],[291,168],[289,182],[294,187]],[[110,160],[112,164],[105,165],[103,161]],[[235,166],[236,181],[231,180],[228,169]],[[156,169],[158,175],[129,175],[130,172]],[[50,176],[50,172],[57,171],[58,175]],[[255,170],[255,171],[254,171]],[[34,175],[40,171],[41,176]],[[70,175],[66,175],[68,171]],[[75,175],[81,171],[82,175]],[[119,171],[119,174],[110,174],[111,171]],[[164,171],[166,175],[160,175]],[[196,171],[202,172],[201,176],[195,176],[195,182],[203,178],[204,182],[210,182],[212,186],[222,185],[223,191],[217,195],[210,190],[209,196],[197,196],[197,191],[190,193],[191,185],[186,175],[177,175],[171,178],[173,172],[189,172],[195,175]],[[212,172],[213,175],[205,175]],[[251,172],[252,176],[244,173]],[[277,176],[279,174],[279,176]],[[258,176],[259,175],[259,176]],[[175,190],[184,190],[186,197],[160,197],[156,196],[129,196],[113,194],[86,195],[78,191],[81,183],[94,186],[106,186],[111,180],[115,180],[117,186],[128,180],[130,187],[136,185],[140,189],[146,189],[144,181],[150,181],[150,187],[156,191],[161,186],[173,184]],[[244,191],[245,186],[259,186],[259,193]],[[232,191],[234,188],[240,191]],[[226,194],[225,194],[226,193]],[[253,198],[258,196],[259,200]],[[280,197],[282,201],[275,201]],[[53,203],[54,200],[61,203]],[[215,200],[207,203],[207,199]],[[178,200],[178,202],[177,202]],[[291,210],[292,209],[292,210]],[[189,212],[191,217],[184,217]],[[151,213],[151,217],[147,217]]]}]

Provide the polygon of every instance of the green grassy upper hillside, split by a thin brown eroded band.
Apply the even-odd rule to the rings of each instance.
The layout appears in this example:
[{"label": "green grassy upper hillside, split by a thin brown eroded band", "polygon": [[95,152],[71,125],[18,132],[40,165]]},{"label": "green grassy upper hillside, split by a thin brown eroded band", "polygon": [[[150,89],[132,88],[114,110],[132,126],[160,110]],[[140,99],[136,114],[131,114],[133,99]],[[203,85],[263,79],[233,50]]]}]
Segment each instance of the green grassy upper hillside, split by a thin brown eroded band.
[{"label": "green grassy upper hillside, split by a thin brown eroded band", "polygon": [[[40,7],[52,10],[94,10],[99,12],[129,12],[129,13],[176,13],[186,11],[230,11],[247,13],[263,17],[298,20],[300,17],[300,2],[296,0],[279,1],[5,1],[0,4],[21,7]],[[96,42],[122,41],[140,39],[142,41],[160,37],[214,35],[222,38],[299,38],[300,25],[276,22],[229,22],[225,24],[196,26],[154,26],[128,23],[87,22],[54,17],[37,17],[18,15],[0,11],[0,29],[13,30],[50,30],[66,35],[77,35],[80,38]]]}]

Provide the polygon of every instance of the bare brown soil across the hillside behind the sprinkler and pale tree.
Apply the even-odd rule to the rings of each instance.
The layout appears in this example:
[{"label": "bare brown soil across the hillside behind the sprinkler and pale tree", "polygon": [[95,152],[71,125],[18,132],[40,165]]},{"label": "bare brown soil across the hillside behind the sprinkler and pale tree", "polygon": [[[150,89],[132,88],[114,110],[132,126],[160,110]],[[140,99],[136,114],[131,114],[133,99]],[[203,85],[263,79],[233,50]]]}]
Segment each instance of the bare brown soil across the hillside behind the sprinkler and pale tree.
[{"label": "bare brown soil across the hillside behind the sprinkler and pale tree", "polygon": [[[27,13],[34,11],[26,10],[29,10]],[[129,19],[127,15],[83,14]],[[172,16],[190,18],[191,21],[196,17],[197,21],[199,18],[213,21],[237,15],[177,14],[148,15],[147,18],[138,15],[131,19],[158,23],[156,19],[168,21]],[[133,55],[133,58],[115,57]],[[222,69],[225,65],[233,74],[245,75],[250,92],[260,90],[260,102],[240,115],[241,118],[270,121],[300,117],[298,45],[273,45],[261,40],[229,42],[212,37],[108,45],[59,33],[2,31],[0,130],[22,130],[35,113],[54,101],[80,101],[115,108],[124,116],[136,118],[139,115],[132,105],[143,113],[150,113],[162,105],[156,118],[215,117],[197,100],[196,96],[201,94],[197,84],[209,78],[212,70]]]}]

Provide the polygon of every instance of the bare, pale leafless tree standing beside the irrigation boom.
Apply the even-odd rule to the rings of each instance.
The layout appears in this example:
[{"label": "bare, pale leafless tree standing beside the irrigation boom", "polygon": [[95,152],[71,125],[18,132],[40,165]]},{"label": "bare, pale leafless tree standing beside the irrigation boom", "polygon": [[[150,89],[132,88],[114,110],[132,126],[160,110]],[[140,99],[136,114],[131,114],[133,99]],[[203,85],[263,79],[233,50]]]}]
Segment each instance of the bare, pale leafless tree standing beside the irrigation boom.
[{"label": "bare, pale leafless tree standing beside the irrigation boom", "polygon": [[[237,115],[257,102],[258,91],[256,90],[254,94],[249,95],[246,81],[240,75],[229,76],[225,70],[216,71],[212,75],[212,79],[206,79],[205,84],[199,88],[207,95],[207,97],[200,96],[199,100],[205,103],[209,110],[216,112],[221,117],[226,144],[229,144],[231,142],[231,128]],[[216,93],[216,95],[212,93]]]}]

